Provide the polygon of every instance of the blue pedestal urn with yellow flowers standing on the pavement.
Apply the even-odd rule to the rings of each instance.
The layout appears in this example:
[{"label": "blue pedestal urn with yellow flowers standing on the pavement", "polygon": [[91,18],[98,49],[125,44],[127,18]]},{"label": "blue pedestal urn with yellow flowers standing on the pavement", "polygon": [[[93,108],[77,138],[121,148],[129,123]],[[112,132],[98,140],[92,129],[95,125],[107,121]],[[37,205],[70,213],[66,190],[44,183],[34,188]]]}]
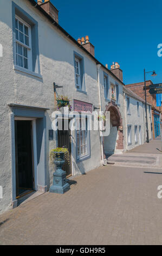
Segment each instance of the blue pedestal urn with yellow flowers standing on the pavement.
[{"label": "blue pedestal urn with yellow flowers standing on the pavement", "polygon": [[49,192],[60,193],[70,189],[70,185],[66,180],[66,172],[62,170],[64,162],[69,164],[69,151],[67,148],[55,148],[50,151],[50,160],[54,161],[56,171],[53,173],[53,185],[49,188]]}]

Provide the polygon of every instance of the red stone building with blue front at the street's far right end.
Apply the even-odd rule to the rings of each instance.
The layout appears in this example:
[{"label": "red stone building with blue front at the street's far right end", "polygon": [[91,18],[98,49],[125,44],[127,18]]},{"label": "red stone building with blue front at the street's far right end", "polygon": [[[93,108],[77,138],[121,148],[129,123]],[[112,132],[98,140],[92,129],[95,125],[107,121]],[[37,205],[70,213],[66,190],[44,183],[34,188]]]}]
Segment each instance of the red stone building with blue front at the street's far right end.
[{"label": "red stone building with blue front at the street's far right end", "polygon": [[[159,121],[161,120],[162,107],[156,106],[156,95],[149,93],[150,84],[153,84],[151,80],[146,81],[147,102],[151,103],[152,105],[152,137],[154,139],[160,135]],[[131,89],[132,92],[145,100],[144,82],[126,84],[125,87]]]}]

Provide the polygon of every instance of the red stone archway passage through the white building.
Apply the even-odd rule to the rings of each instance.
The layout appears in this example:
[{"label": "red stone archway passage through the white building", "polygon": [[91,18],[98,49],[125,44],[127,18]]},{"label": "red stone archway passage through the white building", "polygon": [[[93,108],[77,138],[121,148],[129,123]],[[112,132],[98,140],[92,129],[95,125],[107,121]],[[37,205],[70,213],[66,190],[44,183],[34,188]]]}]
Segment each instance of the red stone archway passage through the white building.
[{"label": "red stone archway passage through the white building", "polygon": [[113,154],[115,150],[122,151],[124,149],[122,118],[118,106],[113,101],[106,105],[106,111],[110,112],[111,132],[104,138],[104,153]]}]

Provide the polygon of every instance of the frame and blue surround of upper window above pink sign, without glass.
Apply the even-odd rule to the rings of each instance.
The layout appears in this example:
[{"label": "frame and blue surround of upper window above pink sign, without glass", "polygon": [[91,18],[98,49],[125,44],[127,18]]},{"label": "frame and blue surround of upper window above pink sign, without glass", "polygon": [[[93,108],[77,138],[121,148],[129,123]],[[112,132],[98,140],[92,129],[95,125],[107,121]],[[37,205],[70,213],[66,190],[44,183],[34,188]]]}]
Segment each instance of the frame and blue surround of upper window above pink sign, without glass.
[{"label": "frame and blue surround of upper window above pink sign, without glass", "polygon": [[[76,84],[75,59],[78,59],[79,60],[79,64],[80,64],[80,81],[81,81],[80,88],[77,88],[77,84]],[[74,51],[74,76],[75,76],[75,88],[76,88],[76,91],[87,94],[87,92],[86,92],[86,83],[85,83],[84,58],[83,58],[83,56],[81,56],[79,53],[77,53],[75,51]]]}]

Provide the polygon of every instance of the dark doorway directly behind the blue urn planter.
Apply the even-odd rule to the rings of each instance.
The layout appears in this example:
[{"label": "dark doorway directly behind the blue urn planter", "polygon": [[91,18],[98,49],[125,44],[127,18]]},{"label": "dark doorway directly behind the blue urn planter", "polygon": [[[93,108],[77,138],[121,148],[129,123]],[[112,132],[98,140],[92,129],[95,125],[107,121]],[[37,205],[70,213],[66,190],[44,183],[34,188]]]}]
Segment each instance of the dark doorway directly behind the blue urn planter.
[{"label": "dark doorway directly behind the blue urn planter", "polygon": [[[68,123],[69,121],[70,119]],[[67,176],[70,176],[72,175],[70,130],[64,130],[64,119],[62,119],[62,130],[57,130],[57,147],[66,147],[69,150],[70,164],[64,163],[62,169],[66,171]]]}]

